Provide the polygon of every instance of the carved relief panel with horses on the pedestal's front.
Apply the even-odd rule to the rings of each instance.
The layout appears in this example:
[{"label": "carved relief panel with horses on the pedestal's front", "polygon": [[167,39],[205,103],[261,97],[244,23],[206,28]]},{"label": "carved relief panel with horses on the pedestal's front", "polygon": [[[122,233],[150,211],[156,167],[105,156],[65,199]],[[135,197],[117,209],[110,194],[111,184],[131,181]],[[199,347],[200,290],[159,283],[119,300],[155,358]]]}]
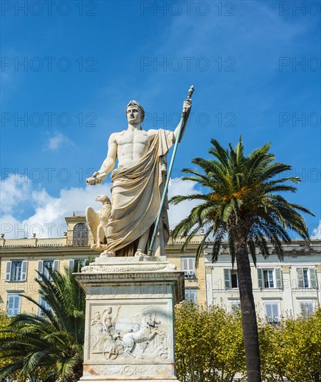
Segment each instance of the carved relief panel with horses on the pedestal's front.
[{"label": "carved relief panel with horses on the pedestal's front", "polygon": [[108,363],[172,358],[167,304],[90,305],[88,359]]}]

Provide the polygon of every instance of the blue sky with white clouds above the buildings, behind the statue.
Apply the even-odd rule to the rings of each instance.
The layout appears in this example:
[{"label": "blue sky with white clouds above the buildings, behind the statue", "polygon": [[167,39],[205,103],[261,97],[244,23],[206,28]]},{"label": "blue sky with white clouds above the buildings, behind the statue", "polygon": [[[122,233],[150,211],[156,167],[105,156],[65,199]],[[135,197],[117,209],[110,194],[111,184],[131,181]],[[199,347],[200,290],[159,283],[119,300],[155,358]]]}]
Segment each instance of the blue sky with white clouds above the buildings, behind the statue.
[{"label": "blue sky with white clouds above the buildings, behind the statue", "polygon": [[[320,2],[304,1],[303,9],[302,1],[246,0],[49,5],[1,3],[6,237],[24,236],[23,227],[48,235],[36,229],[46,222],[59,235],[65,216],[109,192],[110,178],[97,188],[84,179],[99,169],[110,133],[126,128],[128,101],[144,106],[144,128],[174,128],[192,84],[170,195],[192,190],[179,180],[181,169],[208,156],[211,138],[227,146],[242,135],[247,153],[270,141],[277,160],[302,176],[288,197],[315,213],[306,222],[321,235]],[[170,223],[187,208],[172,208]]]}]

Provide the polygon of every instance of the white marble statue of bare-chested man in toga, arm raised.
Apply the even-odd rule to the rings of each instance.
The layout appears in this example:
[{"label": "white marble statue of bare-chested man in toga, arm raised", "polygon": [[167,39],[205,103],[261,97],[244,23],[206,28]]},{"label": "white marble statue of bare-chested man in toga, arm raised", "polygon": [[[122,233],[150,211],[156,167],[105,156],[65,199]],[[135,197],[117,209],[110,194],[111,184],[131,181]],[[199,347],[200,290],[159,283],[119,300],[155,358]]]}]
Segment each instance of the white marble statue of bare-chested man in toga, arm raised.
[{"label": "white marble statue of bare-chested man in toga, arm raised", "polygon": [[[191,106],[191,99],[186,99],[184,111],[189,113]],[[104,229],[107,244],[101,246],[105,249],[101,256],[147,254],[166,180],[166,154],[179,134],[179,126],[175,131],[145,131],[141,126],[144,115],[140,103],[129,102],[127,129],[110,135],[104,163],[86,180],[91,185],[101,183],[118,159],[118,167],[111,174],[111,211]],[[156,235],[156,256],[165,254],[169,238],[167,209],[165,203]]]}]

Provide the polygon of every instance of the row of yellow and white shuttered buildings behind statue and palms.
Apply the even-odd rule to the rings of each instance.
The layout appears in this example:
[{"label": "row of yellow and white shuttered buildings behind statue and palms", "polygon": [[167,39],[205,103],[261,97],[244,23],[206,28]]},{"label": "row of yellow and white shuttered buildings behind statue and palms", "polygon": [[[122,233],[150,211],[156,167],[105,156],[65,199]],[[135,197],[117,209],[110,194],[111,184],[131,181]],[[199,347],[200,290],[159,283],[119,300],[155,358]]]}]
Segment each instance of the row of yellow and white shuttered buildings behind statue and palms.
[{"label": "row of yellow and white shuttered buildings behind statue and palms", "polygon": [[[28,294],[39,301],[37,270],[46,272],[46,267],[53,267],[63,271],[74,263],[81,267],[85,258],[97,256],[90,249],[94,240],[84,214],[75,212],[72,217],[66,217],[66,222],[67,232],[62,238],[0,239],[0,308],[8,315],[39,313],[30,301],[20,296]],[[238,278],[227,244],[213,264],[212,244],[208,242],[195,267],[200,240],[201,235],[195,236],[184,253],[183,240],[170,240],[166,247],[167,260],[184,272],[186,298],[203,307],[222,304],[233,309],[239,303]],[[252,263],[257,312],[273,323],[279,322],[281,313],[291,311],[296,316],[303,309],[312,310],[320,304],[321,240],[313,240],[311,244],[296,240],[285,251],[282,262],[272,251],[266,260],[258,254],[256,267]]]}]

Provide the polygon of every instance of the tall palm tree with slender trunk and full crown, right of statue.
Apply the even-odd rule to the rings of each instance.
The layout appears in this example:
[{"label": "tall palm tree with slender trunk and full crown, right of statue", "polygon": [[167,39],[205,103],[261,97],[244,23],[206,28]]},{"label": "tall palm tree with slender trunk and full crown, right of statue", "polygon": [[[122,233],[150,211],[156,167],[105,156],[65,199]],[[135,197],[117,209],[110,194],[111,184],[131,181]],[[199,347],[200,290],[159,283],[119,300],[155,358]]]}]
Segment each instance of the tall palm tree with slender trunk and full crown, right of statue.
[{"label": "tall palm tree with slender trunk and full crown, right of statue", "polygon": [[305,240],[308,229],[300,212],[313,215],[306,208],[289,203],[279,192],[295,192],[296,188],[286,182],[299,183],[297,176],[280,176],[289,171],[290,165],[275,162],[269,153],[270,143],[252,151],[243,152],[242,137],[236,148],[220,146],[217,140],[208,151],[214,158],[195,158],[192,163],[197,169],[183,169],[186,181],[195,181],[208,189],[206,194],[176,196],[173,204],[186,200],[199,200],[201,204],[192,208],[190,214],[177,224],[172,237],[186,236],[183,250],[199,229],[204,238],[197,249],[197,261],[206,238],[213,235],[212,261],[217,260],[222,240],[227,239],[231,260],[236,260],[240,309],[245,342],[247,379],[261,381],[258,331],[254,297],[252,292],[249,253],[256,264],[256,247],[264,258],[269,256],[268,241],[281,260],[282,244],[291,241],[287,229],[292,229]]}]

